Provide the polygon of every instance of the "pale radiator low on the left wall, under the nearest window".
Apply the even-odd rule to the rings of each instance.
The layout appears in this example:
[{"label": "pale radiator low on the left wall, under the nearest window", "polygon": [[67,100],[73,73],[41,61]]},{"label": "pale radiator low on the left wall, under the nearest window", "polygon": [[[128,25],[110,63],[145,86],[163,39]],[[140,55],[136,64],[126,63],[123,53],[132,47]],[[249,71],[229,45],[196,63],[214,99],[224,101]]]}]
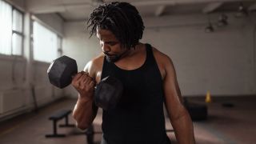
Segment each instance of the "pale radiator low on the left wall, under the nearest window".
[{"label": "pale radiator low on the left wall, under the nearest window", "polygon": [[25,106],[26,98],[22,90],[0,92],[0,114]]}]

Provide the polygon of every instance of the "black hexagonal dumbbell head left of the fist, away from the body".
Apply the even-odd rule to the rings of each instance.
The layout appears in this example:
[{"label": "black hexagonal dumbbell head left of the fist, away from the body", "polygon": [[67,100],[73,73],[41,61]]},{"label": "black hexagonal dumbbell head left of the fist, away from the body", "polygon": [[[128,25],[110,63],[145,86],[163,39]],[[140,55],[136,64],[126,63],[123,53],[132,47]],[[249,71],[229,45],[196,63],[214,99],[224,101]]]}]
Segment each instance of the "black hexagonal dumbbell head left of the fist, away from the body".
[{"label": "black hexagonal dumbbell head left of the fist, away from the body", "polygon": [[72,76],[78,73],[77,62],[64,55],[50,64],[47,73],[50,83],[62,89],[70,85]]}]

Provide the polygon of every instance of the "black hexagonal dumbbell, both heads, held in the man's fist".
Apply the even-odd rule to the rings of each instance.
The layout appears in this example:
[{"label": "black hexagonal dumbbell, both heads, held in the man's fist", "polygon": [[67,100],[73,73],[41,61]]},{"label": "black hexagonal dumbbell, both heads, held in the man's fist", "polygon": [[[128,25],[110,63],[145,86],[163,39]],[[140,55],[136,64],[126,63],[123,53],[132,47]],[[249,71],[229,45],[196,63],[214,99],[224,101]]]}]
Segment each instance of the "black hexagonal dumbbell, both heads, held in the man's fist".
[{"label": "black hexagonal dumbbell, both heads, held in the man's fist", "polygon": [[[47,73],[50,83],[62,89],[70,85],[72,77],[78,73],[77,62],[64,55],[51,62]],[[114,108],[122,96],[122,89],[122,82],[117,78],[111,76],[102,78],[95,88],[95,104],[103,110]]]}]

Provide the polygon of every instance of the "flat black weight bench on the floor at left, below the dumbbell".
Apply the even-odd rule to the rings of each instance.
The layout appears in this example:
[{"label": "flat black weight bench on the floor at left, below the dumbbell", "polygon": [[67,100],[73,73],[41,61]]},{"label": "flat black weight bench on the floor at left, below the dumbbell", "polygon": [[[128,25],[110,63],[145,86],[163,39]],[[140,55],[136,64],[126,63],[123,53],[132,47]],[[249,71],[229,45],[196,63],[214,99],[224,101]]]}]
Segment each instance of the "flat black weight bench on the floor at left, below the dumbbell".
[{"label": "flat black weight bench on the floor at left, below the dumbbell", "polygon": [[53,121],[53,134],[46,134],[46,138],[53,137],[66,137],[65,134],[58,134],[57,132],[57,122],[65,118],[65,124],[59,125],[60,127],[74,127],[74,125],[69,124],[69,114],[71,114],[72,110],[60,110],[57,113],[51,115],[49,120]]}]

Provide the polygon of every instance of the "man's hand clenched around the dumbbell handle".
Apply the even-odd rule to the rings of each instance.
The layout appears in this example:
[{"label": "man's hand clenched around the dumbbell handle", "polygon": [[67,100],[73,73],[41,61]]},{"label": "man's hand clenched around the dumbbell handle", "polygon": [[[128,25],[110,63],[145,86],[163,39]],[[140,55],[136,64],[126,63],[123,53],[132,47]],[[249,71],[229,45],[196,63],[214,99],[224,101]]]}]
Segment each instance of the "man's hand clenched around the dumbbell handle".
[{"label": "man's hand clenched around the dumbbell handle", "polygon": [[93,98],[95,83],[94,78],[91,78],[85,71],[76,74],[71,82],[81,98]]}]

